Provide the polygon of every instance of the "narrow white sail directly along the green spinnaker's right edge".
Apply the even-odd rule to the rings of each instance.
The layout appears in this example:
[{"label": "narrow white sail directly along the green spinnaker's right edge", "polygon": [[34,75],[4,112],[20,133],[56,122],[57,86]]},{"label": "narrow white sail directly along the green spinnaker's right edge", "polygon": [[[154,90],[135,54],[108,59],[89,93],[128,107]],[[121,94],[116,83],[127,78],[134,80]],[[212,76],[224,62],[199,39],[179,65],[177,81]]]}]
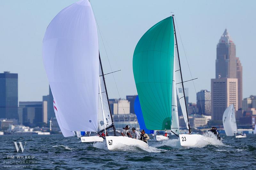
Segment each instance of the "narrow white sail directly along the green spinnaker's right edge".
[{"label": "narrow white sail directly along the green spinnaker's right edge", "polygon": [[[175,61],[174,54],[174,61]],[[172,125],[171,129],[174,133],[180,134],[178,105],[177,105],[177,93],[176,93],[176,74],[175,74],[175,62],[173,63],[173,79],[172,79]],[[174,135],[172,133],[172,135]]]}]

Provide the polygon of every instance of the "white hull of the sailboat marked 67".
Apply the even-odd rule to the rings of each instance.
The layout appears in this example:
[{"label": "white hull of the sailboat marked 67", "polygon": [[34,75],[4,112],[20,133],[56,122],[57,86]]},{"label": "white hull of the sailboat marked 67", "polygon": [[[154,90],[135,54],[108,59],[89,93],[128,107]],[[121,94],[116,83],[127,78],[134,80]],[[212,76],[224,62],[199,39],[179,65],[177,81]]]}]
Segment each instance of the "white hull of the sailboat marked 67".
[{"label": "white hull of the sailboat marked 67", "polygon": [[146,142],[143,142],[138,139],[133,139],[130,137],[123,137],[123,136],[107,136],[103,140],[103,143],[106,146],[106,149],[112,151],[115,149],[118,149],[122,145],[127,145],[127,146],[137,146],[141,149],[143,148],[148,148],[148,144]]}]

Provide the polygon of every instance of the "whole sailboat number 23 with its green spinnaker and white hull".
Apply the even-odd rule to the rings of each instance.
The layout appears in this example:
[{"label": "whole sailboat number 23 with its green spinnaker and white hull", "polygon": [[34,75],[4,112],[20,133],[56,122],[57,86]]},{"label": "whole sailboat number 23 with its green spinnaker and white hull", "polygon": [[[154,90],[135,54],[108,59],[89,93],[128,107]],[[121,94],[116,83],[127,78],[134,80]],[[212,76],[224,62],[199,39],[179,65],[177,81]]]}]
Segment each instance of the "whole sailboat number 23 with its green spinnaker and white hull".
[{"label": "whole sailboat number 23 with its green spinnaker and white hull", "polygon": [[[173,17],[158,22],[140,38],[133,54],[133,75],[146,127],[172,130],[181,146],[190,147],[203,136],[191,134]],[[189,134],[179,131],[176,89]]]}]

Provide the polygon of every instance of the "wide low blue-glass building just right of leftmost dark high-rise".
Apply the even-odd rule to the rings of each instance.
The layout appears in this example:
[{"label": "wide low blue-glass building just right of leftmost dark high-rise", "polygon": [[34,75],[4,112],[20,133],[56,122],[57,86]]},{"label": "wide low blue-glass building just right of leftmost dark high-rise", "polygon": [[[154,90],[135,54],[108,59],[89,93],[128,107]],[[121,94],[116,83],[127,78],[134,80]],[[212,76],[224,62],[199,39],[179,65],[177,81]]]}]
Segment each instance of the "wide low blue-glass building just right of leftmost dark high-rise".
[{"label": "wide low blue-glass building just right of leftmost dark high-rise", "polygon": [[[20,101],[19,115],[22,115],[22,124],[39,126],[43,122],[42,101]],[[20,116],[21,117],[21,116]]]}]

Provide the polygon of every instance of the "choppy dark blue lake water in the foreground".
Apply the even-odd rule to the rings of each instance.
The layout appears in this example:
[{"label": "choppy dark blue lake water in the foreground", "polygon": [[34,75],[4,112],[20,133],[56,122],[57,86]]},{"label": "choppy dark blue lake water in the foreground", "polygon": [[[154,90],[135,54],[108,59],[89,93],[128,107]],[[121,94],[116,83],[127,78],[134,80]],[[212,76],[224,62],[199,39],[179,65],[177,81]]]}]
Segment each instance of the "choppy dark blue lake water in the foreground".
[{"label": "choppy dark blue lake water in the foreground", "polygon": [[[127,146],[120,146],[116,151],[107,151],[102,149],[101,143],[81,143],[76,137],[4,135],[0,136],[0,168],[7,169],[4,166],[11,166],[8,169],[23,169],[25,166],[31,169],[256,169],[255,139],[256,135],[247,135],[246,138],[240,139],[224,136],[223,143],[220,143],[217,139],[205,137],[204,142],[196,147],[184,149],[180,146],[178,138],[174,138],[164,142],[149,141],[150,147],[146,151]],[[24,152],[20,149],[17,153],[13,142],[23,142],[23,145],[27,142]],[[19,155],[30,155],[34,158],[17,159]],[[36,162],[23,164],[21,161]]]}]

